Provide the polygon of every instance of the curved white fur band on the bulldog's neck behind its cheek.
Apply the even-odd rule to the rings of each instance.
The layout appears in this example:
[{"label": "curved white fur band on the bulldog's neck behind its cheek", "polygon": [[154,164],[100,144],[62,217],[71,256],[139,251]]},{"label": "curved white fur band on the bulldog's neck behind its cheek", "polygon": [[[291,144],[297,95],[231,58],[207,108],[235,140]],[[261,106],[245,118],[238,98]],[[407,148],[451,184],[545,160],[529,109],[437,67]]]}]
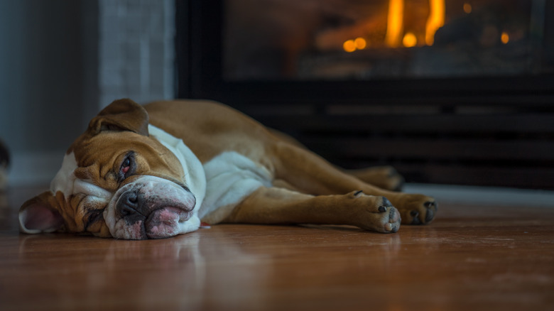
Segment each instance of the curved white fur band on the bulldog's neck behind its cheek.
[{"label": "curved white fur band on the bulldog's neck behind its cheek", "polygon": [[187,187],[196,197],[195,212],[197,212],[206,195],[206,175],[202,163],[190,148],[183,143],[183,140],[152,124],[148,124],[148,133],[178,158],[188,181]]}]

